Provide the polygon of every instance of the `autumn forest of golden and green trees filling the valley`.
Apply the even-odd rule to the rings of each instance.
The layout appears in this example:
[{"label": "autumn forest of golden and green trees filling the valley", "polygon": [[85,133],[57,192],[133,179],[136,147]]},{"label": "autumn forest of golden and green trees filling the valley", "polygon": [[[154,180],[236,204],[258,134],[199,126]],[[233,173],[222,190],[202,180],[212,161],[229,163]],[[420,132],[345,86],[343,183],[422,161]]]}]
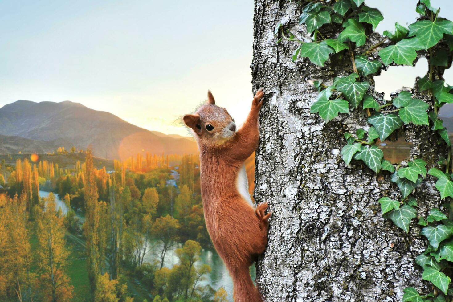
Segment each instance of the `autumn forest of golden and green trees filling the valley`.
[{"label": "autumn forest of golden and green trees filling the valley", "polygon": [[70,168],[37,154],[2,159],[0,300],[228,301],[203,282],[212,268],[200,256],[214,249],[198,156],[138,154],[107,170],[82,153]]}]

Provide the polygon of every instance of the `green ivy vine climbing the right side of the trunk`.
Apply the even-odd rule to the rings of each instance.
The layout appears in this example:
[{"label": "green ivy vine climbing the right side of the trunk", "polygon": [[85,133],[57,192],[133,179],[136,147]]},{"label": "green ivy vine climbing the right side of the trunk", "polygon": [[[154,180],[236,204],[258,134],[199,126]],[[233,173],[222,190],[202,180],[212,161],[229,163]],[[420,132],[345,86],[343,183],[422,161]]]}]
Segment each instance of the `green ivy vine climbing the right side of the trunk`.
[{"label": "green ivy vine climbing the right side of the trunk", "polygon": [[[448,204],[449,217],[439,208],[433,208],[425,219],[417,215],[417,200],[411,194],[428,173],[437,178],[435,187],[441,199],[453,198],[453,173],[449,173],[453,164],[451,143],[447,129],[438,117],[439,107],[453,103],[453,86],[446,86],[441,69],[451,62],[453,22],[440,18],[440,9],[434,8],[430,0],[420,0],[415,10],[420,17],[409,25],[409,29],[396,23],[394,31],[385,31],[384,39],[369,48],[362,46],[384,18],[379,10],[366,6],[364,0],[309,0],[302,8],[299,24],[305,24],[311,40],[296,38],[283,23],[277,25],[275,34],[278,43],[282,40],[299,43],[293,61],[308,58],[322,67],[332,55],[350,57],[353,73],[325,83],[313,82],[319,93],[310,112],[318,113],[328,122],[338,114],[347,114],[360,107],[365,111],[369,128],[344,134],[346,144],[341,151],[342,159],[347,165],[352,159],[361,160],[375,173],[381,170],[391,173],[390,181],[400,189],[400,199],[381,197],[378,202],[382,215],[406,233],[414,218],[418,218],[418,224],[423,226],[420,234],[426,237],[428,248],[416,257],[415,262],[423,268],[422,278],[433,284],[433,290],[421,295],[415,288],[405,288],[403,302],[445,302],[453,301],[450,279],[453,275],[453,201]],[[341,32],[332,34],[326,30],[329,24],[342,24]],[[418,53],[424,54],[429,61],[429,72],[419,79],[418,91],[430,96],[432,105],[414,98],[411,91],[401,91],[386,104],[376,101],[368,80],[381,70],[382,64],[412,66]],[[369,58],[369,54],[374,57]],[[408,124],[431,125],[431,129],[437,131],[438,143],[448,149],[448,158],[439,158],[438,162],[445,171],[438,168],[427,171],[427,163],[421,158],[413,159],[405,166],[401,163],[395,166],[384,159],[384,153],[375,145],[376,139],[384,141]]]}]

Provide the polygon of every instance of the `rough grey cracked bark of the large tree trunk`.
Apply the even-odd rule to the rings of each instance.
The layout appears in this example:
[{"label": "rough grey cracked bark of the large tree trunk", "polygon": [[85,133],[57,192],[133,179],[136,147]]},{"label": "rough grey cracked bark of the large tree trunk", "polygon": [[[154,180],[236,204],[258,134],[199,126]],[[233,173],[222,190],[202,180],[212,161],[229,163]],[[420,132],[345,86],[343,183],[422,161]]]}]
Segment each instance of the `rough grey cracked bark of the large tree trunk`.
[{"label": "rough grey cracked bark of the large tree trunk", "polygon": [[[381,215],[380,197],[399,198],[390,173],[376,176],[362,162],[352,160],[347,167],[342,161],[344,132],[368,129],[366,116],[354,110],[326,124],[309,112],[318,94],[309,80],[349,74],[349,55],[331,57],[318,67],[308,58],[291,62],[298,43],[276,43],[274,29],[280,21],[297,38],[309,38],[297,22],[301,6],[295,2],[255,2],[253,88],[265,88],[255,200],[270,201],[273,211],[256,283],[265,301],[400,301],[407,286],[428,292],[414,262],[426,247],[417,220],[406,234]],[[380,39],[372,34],[361,49]],[[374,88],[373,81],[370,86]],[[413,93],[431,103],[428,96]],[[385,103],[382,95],[374,96]],[[423,158],[427,168],[445,156],[446,148],[437,145],[439,137],[429,126],[404,126],[390,139],[398,137],[414,144],[411,158]],[[420,216],[441,204],[434,182],[427,176],[415,189]]]}]

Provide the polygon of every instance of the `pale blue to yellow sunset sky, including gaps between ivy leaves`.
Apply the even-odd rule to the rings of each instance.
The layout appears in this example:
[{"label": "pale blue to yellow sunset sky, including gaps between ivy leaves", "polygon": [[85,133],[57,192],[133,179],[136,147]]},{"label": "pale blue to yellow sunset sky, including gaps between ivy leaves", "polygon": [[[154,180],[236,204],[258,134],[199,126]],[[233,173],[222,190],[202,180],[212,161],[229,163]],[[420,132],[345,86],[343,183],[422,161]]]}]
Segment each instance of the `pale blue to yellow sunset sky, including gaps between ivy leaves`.
[{"label": "pale blue to yellow sunset sky, including gaps between ivy leaves", "polygon": [[[453,20],[449,1],[432,4]],[[379,32],[413,23],[416,3],[366,0],[384,15]],[[186,135],[180,117],[211,89],[241,123],[253,96],[253,11],[251,0],[0,1],[0,107],[69,100]],[[376,90],[388,97],[427,68],[390,67]]]}]

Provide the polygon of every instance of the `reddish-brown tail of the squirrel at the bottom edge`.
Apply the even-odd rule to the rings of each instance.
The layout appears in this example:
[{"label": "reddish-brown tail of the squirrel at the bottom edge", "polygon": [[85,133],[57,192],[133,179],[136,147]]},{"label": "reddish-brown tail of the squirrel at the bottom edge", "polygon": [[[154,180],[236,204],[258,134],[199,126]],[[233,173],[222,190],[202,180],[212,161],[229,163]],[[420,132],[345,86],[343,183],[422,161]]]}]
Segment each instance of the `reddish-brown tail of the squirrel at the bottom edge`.
[{"label": "reddish-brown tail of the squirrel at the bottom edge", "polygon": [[235,302],[263,302],[258,288],[253,285],[248,267],[236,268],[232,273]]}]

